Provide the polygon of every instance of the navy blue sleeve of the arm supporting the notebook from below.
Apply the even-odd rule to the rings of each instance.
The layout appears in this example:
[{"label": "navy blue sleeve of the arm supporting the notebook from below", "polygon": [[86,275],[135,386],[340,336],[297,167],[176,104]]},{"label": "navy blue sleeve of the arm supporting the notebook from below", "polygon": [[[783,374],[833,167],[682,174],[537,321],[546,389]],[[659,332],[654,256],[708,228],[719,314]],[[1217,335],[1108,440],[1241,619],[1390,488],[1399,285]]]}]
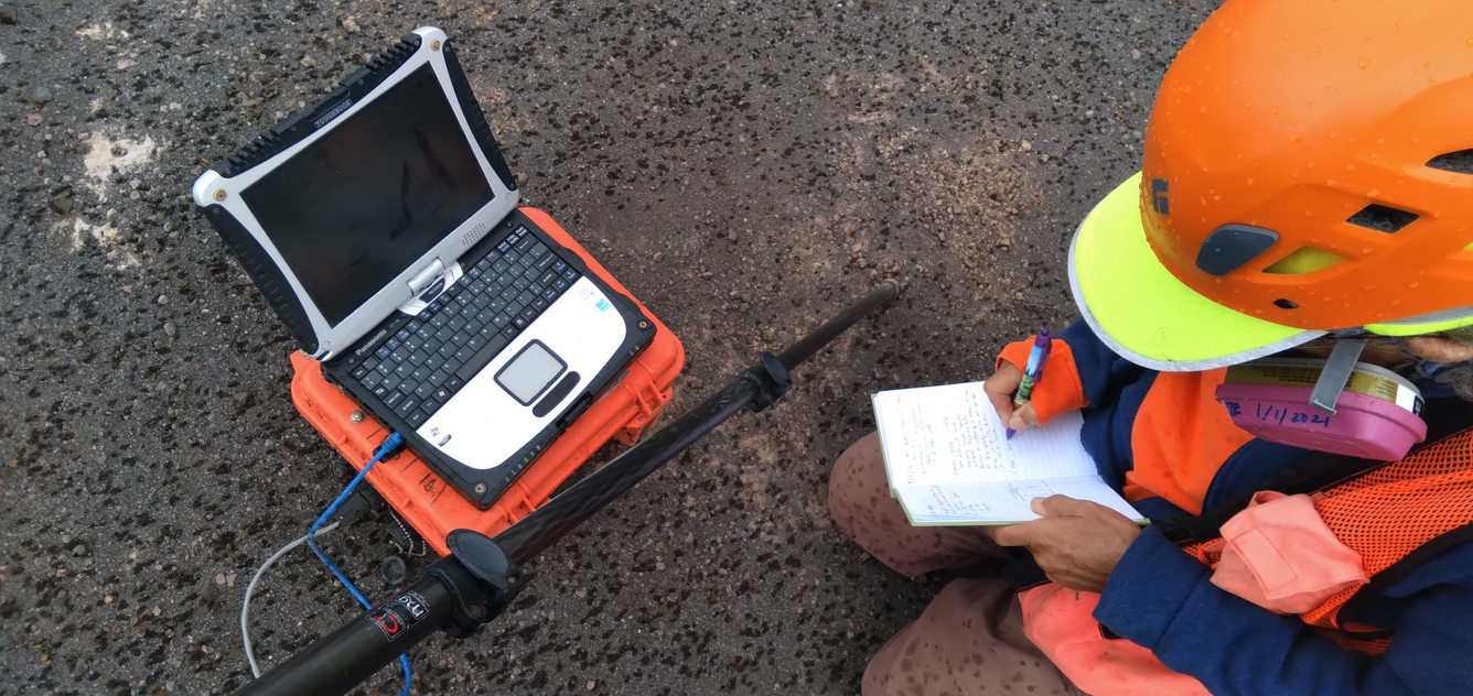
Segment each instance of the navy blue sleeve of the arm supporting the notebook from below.
[{"label": "navy blue sleeve of the arm supporting the notebook from below", "polygon": [[1215,696],[1473,693],[1473,631],[1463,628],[1473,625],[1470,550],[1435,559],[1441,575],[1407,597],[1391,649],[1374,658],[1218,589],[1205,565],[1150,528],[1121,558],[1094,618]]}]

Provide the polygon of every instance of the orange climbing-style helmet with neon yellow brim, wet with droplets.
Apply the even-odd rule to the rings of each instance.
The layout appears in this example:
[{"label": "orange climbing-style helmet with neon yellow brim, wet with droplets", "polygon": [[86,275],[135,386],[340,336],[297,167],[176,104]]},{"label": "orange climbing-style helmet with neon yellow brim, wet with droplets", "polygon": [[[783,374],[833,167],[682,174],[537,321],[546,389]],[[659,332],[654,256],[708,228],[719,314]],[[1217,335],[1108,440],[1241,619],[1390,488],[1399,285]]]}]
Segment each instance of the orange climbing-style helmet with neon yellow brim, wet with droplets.
[{"label": "orange climbing-style helmet with neon yellow brim, wet with droplets", "polygon": [[1230,0],[1145,150],[1069,255],[1121,355],[1205,369],[1473,324],[1473,3]]}]

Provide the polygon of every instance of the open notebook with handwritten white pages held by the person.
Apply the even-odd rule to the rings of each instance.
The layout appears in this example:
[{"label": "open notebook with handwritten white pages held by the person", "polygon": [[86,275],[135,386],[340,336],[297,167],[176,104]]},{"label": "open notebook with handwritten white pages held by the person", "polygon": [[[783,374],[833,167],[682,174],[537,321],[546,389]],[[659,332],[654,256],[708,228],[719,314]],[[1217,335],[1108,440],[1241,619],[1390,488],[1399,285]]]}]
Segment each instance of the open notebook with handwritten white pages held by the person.
[{"label": "open notebook with handwritten white pages held by the person", "polygon": [[1033,499],[1052,494],[1145,522],[1096,472],[1078,412],[1008,440],[982,383],[881,391],[873,405],[890,494],[913,525],[1025,522],[1038,518]]}]

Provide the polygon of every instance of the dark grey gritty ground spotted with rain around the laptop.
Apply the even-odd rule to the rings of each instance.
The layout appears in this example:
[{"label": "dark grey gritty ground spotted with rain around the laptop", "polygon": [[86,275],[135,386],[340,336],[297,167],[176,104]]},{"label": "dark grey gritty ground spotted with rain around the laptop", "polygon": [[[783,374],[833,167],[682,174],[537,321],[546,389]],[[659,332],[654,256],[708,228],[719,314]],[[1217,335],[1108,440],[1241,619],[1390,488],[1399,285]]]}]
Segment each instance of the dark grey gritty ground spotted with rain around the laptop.
[{"label": "dark grey gritty ground spotted with rain around the laptop", "polygon": [[[418,647],[417,693],[857,692],[935,584],[832,527],[831,462],[872,428],[868,393],[981,378],[1074,316],[1074,225],[1134,172],[1156,82],[1214,4],[6,1],[4,693],[246,681],[246,580],[349,468],[293,411],[293,341],[189,185],[429,24],[524,203],[685,341],[672,411],[879,280],[907,288],[779,408],[538,559],[498,624]],[[389,524],[327,543],[374,596]],[[267,662],[356,614],[305,552],[258,606]],[[387,668],[364,693],[398,689]]]}]

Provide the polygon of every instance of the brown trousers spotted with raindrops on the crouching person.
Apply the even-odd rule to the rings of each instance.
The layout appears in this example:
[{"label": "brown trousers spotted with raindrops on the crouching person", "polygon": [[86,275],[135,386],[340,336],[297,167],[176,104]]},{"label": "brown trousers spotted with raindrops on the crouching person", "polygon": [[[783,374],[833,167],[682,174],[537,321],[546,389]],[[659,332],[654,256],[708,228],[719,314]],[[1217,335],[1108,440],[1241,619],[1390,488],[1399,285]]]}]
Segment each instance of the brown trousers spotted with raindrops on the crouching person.
[{"label": "brown trousers spotted with raindrops on the crouching person", "polygon": [[[907,577],[974,565],[1002,550],[977,527],[912,527],[890,497],[879,437],[869,434],[834,464],[829,511],[838,528]],[[1038,695],[1077,690],[1022,634],[1016,594],[997,578],[947,583],[921,618],[865,668],[866,696]]]}]

